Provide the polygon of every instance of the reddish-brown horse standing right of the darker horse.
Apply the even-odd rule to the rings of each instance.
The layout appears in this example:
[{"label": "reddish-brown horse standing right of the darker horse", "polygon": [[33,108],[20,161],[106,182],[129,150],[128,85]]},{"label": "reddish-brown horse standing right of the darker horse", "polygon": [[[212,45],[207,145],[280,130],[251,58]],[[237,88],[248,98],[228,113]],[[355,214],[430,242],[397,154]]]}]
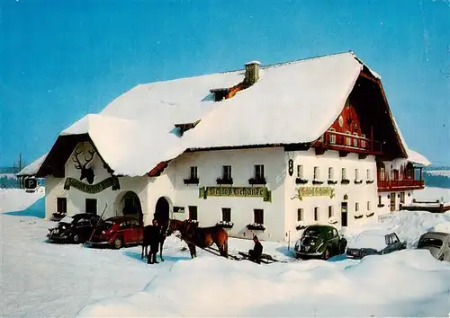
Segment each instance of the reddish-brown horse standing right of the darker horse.
[{"label": "reddish-brown horse standing right of the darker horse", "polygon": [[213,243],[217,245],[220,256],[228,258],[228,233],[220,226],[199,227],[196,223],[184,220],[180,233],[192,258],[197,257],[195,246],[205,249]]}]

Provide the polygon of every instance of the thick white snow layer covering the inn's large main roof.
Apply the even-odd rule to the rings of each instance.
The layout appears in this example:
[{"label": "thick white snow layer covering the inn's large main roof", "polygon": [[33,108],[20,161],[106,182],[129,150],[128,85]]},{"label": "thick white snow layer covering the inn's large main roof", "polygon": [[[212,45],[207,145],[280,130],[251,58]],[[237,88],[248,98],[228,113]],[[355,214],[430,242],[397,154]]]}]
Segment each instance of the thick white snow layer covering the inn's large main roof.
[{"label": "thick white snow layer covering the inn's large main roof", "polygon": [[[60,136],[88,134],[111,169],[130,176],[186,149],[311,142],[338,118],[364,67],[352,52],[261,66],[256,84],[220,102],[211,90],[242,83],[245,70],[139,84]],[[198,119],[178,137],[175,124]]]}]

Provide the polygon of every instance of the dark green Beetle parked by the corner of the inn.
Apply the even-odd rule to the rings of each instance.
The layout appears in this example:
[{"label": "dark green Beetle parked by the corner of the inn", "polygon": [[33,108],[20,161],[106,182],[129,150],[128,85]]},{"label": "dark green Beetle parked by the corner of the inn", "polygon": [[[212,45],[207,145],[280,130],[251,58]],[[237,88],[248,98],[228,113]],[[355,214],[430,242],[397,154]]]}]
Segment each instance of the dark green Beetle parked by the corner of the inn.
[{"label": "dark green Beetle parked by the corner of the inn", "polygon": [[295,243],[295,257],[328,260],[332,256],[344,253],[346,246],[347,240],[338,234],[334,226],[310,225]]}]

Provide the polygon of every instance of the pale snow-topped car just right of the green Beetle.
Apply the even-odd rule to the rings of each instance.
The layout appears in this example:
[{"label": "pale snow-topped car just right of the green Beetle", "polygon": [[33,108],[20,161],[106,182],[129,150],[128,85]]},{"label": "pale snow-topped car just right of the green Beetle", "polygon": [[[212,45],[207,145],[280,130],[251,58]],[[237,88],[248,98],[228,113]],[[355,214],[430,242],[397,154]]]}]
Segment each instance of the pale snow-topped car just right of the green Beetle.
[{"label": "pale snow-topped car just right of the green Beetle", "polygon": [[397,234],[384,230],[367,230],[349,243],[347,257],[362,259],[367,255],[383,255],[406,249],[406,242],[401,242]]}]

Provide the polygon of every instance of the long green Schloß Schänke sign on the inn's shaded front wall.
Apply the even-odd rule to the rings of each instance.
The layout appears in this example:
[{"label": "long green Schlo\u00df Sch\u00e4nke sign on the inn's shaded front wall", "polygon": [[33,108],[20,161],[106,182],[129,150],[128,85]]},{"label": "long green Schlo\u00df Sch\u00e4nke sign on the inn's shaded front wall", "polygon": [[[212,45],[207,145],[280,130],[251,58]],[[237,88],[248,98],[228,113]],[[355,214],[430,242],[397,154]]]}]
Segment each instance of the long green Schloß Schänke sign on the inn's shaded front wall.
[{"label": "long green Schlo\u00df Sch\u00e4nke sign on the inn's shaded front wall", "polygon": [[263,198],[266,202],[272,202],[271,191],[266,187],[202,187],[199,189],[199,198],[208,197],[239,197],[239,198]]}]

